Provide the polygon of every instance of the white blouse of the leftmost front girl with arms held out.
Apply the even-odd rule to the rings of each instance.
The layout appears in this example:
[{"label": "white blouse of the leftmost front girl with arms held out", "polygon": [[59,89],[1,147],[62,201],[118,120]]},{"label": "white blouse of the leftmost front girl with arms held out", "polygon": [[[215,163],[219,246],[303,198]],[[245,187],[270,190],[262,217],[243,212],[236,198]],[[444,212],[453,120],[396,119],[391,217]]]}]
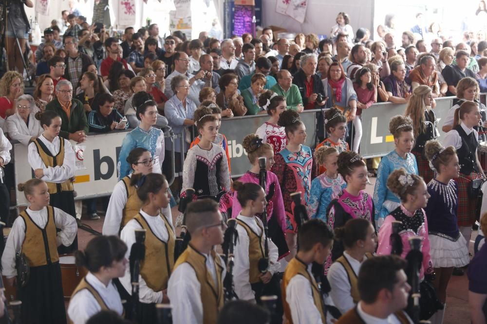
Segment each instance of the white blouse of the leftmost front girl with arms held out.
[{"label": "white blouse of the leftmost front girl with arms held out", "polygon": [[[61,244],[64,246],[70,246],[75,240],[76,233],[78,232],[78,226],[76,219],[73,216],[65,213],[59,208],[54,208],[54,222],[56,228],[61,229],[57,232],[56,242],[57,246]],[[26,209],[26,212],[32,218],[32,221],[36,223],[40,228],[44,228],[47,224],[47,207],[41,210]],[[15,268],[15,254],[22,248],[22,243],[25,239],[25,222],[21,217],[17,217],[12,225],[10,234],[8,235],[7,243],[5,244],[5,251],[1,257],[2,274],[7,278],[11,278],[17,275],[17,269]],[[43,247],[39,247],[43,248]]]}]

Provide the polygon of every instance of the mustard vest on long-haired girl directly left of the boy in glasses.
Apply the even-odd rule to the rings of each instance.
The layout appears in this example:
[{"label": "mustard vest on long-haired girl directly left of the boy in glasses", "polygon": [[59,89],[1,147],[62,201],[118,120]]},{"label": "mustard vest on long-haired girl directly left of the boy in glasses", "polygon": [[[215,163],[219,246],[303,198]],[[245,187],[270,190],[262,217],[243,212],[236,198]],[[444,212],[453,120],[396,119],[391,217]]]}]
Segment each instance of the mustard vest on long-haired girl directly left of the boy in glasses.
[{"label": "mustard vest on long-haired girl directly left of the boy in glasses", "polygon": [[144,278],[147,286],[154,291],[161,291],[168,288],[169,276],[174,268],[174,242],[176,240],[174,232],[164,215],[160,215],[166,224],[169,234],[168,242],[160,240],[154,235],[149,224],[142,215],[133,217],[140,226],[146,230],[146,256],[141,262],[140,275]]}]

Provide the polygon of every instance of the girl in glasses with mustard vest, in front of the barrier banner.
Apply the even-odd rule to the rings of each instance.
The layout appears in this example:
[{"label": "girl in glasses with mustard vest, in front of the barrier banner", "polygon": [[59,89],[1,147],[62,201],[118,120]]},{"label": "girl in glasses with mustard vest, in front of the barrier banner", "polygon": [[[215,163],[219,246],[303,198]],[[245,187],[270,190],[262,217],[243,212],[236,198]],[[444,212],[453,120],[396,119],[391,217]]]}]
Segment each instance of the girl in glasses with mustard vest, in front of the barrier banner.
[{"label": "girl in glasses with mustard vest, in front of the barrier banner", "polygon": [[130,180],[135,174],[152,173],[154,159],[149,150],[136,147],[130,151],[126,160],[131,167],[131,173],[123,177],[113,188],[103,223],[103,235],[118,235],[142,207],[137,190],[131,186]]}]

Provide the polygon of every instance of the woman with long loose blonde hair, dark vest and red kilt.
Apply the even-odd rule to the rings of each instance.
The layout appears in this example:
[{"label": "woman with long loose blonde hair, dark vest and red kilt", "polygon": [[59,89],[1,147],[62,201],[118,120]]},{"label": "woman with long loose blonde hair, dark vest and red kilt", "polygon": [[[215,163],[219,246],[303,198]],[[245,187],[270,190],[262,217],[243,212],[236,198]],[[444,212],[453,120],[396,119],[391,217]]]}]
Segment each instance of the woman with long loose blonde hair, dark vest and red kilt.
[{"label": "woman with long loose blonde hair, dark vest and red kilt", "polygon": [[426,183],[430,183],[434,177],[434,173],[425,157],[424,148],[426,142],[435,138],[436,134],[438,134],[436,115],[432,110],[435,105],[431,88],[427,85],[418,85],[412,91],[412,96],[404,112],[404,115],[412,120],[415,138],[412,153],[416,157],[418,174],[423,177]]}]

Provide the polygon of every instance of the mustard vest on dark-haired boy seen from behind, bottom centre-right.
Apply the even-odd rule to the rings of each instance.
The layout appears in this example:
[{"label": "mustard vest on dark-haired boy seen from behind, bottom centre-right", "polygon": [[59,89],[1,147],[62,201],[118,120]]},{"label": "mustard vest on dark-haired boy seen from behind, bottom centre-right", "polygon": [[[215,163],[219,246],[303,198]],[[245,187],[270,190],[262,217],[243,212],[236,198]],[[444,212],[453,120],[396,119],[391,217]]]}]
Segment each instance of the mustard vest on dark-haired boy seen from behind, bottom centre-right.
[{"label": "mustard vest on dark-haired boy seen from behind, bottom centre-right", "polygon": [[289,304],[286,302],[286,288],[291,279],[296,275],[302,275],[308,279],[311,284],[315,306],[321,315],[321,321],[326,323],[325,314],[323,313],[323,299],[321,297],[321,292],[318,289],[318,284],[316,283],[315,278],[308,273],[306,264],[300,261],[297,257],[294,257],[287,265],[281,283],[282,306],[284,306],[284,314],[286,314],[287,323],[293,324],[293,318],[291,316],[291,308],[289,308]]}]

